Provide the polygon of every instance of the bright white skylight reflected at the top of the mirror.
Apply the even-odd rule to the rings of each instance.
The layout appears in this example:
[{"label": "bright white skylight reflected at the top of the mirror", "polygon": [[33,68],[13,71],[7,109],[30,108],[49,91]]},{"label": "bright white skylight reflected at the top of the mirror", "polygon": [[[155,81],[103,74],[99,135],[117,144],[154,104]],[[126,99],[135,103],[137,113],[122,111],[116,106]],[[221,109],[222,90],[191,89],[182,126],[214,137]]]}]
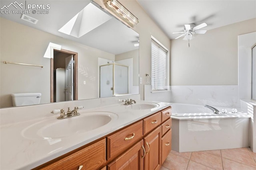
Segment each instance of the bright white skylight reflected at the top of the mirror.
[{"label": "bright white skylight reflected at the top of the mirror", "polygon": [[89,3],[58,31],[79,38],[110,19],[111,16]]}]

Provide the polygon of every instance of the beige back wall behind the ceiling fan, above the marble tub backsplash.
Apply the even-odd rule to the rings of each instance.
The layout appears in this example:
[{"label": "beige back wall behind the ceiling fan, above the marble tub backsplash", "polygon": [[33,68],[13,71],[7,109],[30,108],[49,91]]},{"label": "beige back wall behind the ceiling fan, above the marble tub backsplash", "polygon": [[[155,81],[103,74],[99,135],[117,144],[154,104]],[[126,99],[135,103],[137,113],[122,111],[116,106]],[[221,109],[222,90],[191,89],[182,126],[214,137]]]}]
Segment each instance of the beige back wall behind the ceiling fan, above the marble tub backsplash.
[{"label": "beige back wall behind the ceiling fan, above the marble tub backsplash", "polygon": [[256,31],[256,18],[171,40],[171,85],[238,85],[238,35]]}]

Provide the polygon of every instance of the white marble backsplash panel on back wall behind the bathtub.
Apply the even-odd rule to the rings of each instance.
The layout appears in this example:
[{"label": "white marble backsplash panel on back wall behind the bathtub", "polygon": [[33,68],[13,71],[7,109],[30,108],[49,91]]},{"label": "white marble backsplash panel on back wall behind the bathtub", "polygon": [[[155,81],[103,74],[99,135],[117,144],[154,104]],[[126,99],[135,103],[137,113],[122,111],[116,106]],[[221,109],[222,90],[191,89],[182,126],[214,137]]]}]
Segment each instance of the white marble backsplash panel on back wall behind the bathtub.
[{"label": "white marble backsplash panel on back wall behind the bathtub", "polygon": [[240,108],[238,85],[170,86],[170,90],[170,102]]}]

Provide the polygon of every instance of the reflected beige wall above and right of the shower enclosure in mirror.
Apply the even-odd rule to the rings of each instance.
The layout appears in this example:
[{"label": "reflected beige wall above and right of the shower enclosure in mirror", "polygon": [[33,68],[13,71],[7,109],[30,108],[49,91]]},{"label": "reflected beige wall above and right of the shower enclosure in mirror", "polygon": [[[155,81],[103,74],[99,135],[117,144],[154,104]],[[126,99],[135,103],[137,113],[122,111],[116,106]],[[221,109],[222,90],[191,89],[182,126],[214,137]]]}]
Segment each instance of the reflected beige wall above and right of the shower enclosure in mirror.
[{"label": "reflected beige wall above and right of the shower enclosure in mirror", "polygon": [[115,56],[115,61],[132,58],[132,86],[139,86],[139,49]]}]

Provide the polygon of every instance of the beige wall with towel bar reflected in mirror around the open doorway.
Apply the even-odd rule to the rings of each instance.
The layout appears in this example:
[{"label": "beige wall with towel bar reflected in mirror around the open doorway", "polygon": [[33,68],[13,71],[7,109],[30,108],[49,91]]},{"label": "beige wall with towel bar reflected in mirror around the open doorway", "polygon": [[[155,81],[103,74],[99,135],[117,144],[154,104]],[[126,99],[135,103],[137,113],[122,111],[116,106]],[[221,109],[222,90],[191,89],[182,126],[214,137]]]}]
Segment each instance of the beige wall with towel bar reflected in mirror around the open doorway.
[{"label": "beige wall with towel bar reflected in mirror around the open doorway", "polygon": [[[0,20],[0,30],[0,107],[12,106],[10,94],[24,92],[40,92],[40,104],[50,103],[50,59],[43,57],[50,42],[78,53],[78,99],[98,98],[98,57],[114,60],[113,54],[4,18]],[[43,65],[44,68],[4,64],[3,61]]]}]

